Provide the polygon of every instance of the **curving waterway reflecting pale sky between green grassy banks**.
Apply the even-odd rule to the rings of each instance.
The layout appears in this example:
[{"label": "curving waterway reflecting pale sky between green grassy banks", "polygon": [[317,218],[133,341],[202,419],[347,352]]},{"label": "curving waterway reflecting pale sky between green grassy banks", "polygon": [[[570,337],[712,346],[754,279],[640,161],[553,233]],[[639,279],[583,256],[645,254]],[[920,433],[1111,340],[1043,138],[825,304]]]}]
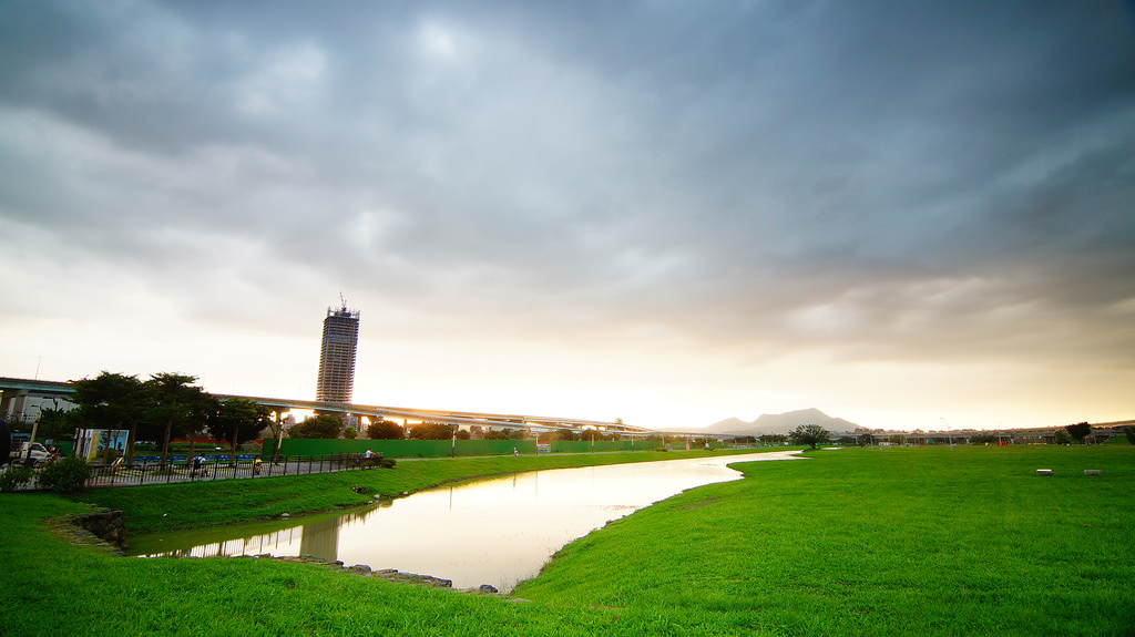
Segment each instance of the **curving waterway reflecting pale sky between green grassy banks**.
[{"label": "curving waterway reflecting pale sky between green grassy banks", "polygon": [[490,584],[508,592],[565,544],[687,489],[737,479],[725,465],[791,452],[720,456],[516,474],[442,487],[348,513],[154,534],[132,540],[141,557],[313,555]]}]

